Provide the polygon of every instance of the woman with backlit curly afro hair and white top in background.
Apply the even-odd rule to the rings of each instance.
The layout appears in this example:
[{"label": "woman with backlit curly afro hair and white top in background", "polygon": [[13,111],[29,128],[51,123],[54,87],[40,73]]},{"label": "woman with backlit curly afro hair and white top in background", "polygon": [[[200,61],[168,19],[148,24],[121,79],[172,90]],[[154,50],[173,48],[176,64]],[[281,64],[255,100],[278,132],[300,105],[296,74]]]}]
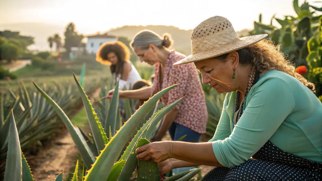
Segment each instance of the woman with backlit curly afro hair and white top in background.
[{"label": "woman with backlit curly afro hair and white top in background", "polygon": [[119,88],[126,90],[130,88],[134,82],[141,80],[137,69],[129,61],[130,50],[121,41],[110,41],[102,44],[96,54],[96,61],[103,65],[109,65],[114,78],[114,85],[118,76]]}]

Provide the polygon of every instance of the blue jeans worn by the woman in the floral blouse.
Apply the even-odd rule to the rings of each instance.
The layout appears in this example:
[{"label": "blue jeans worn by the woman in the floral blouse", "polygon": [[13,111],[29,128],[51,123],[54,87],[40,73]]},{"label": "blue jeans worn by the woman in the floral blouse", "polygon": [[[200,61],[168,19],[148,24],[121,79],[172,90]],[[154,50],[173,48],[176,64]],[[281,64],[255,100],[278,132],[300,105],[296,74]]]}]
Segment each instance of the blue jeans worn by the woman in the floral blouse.
[{"label": "blue jeans worn by the woman in the floral blouse", "polygon": [[[201,137],[201,133],[197,133],[181,124],[173,122],[172,125],[169,128],[169,133],[171,136],[171,139],[176,141],[182,136],[186,135],[184,139],[181,141],[185,142],[193,142],[197,143],[199,142],[199,139]],[[183,168],[174,168],[172,169],[172,174],[177,174],[186,170],[193,169],[195,167],[183,167]]]}]

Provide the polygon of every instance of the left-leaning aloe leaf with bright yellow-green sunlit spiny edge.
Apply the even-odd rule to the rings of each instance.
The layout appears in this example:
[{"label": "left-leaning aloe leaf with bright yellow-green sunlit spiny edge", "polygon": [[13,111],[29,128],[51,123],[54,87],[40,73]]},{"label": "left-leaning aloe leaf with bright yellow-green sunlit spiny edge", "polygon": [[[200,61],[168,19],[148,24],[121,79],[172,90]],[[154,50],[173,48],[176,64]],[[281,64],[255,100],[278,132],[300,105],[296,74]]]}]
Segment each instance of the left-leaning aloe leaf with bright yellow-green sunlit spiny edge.
[{"label": "left-leaning aloe leaf with bright yellow-green sunlit spiny edge", "polygon": [[81,87],[81,85],[78,82],[74,73],[73,73],[73,76],[74,76],[75,82],[77,84],[78,90],[81,93],[81,98],[82,98],[82,101],[83,101],[83,104],[84,104],[84,107],[86,110],[88,122],[90,124],[90,130],[93,134],[93,138],[96,143],[97,151],[99,152],[100,150],[104,149],[104,144],[108,143],[108,139],[107,139],[106,134],[102,128],[101,123],[99,122],[99,119],[96,116],[96,113],[93,109],[92,104],[90,104],[90,100],[88,99],[87,95],[84,92],[84,89]]}]

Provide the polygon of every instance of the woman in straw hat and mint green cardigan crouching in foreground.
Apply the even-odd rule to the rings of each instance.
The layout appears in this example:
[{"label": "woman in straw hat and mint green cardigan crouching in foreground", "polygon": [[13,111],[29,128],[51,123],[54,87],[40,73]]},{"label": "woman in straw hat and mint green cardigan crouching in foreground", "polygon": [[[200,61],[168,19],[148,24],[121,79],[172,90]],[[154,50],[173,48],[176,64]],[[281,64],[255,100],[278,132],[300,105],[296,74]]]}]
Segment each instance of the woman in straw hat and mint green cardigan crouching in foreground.
[{"label": "woman in straw hat and mint green cardigan crouching in foreground", "polygon": [[[322,178],[322,104],[315,86],[295,71],[267,34],[239,38],[224,17],[191,34],[203,84],[227,92],[217,130],[206,143],[154,142],[137,158],[176,167],[215,166],[202,180],[317,180]],[[200,154],[202,152],[202,154]]]}]

